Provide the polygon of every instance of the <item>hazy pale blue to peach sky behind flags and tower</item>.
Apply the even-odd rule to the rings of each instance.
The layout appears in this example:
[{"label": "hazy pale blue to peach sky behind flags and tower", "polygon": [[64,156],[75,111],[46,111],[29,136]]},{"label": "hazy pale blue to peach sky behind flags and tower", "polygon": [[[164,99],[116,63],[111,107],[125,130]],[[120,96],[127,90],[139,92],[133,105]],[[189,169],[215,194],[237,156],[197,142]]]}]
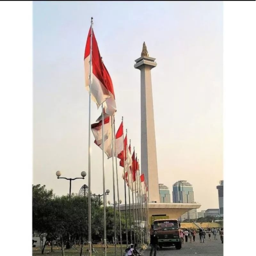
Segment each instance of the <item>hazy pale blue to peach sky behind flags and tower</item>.
[{"label": "hazy pale blue to peach sky behind flags and tower", "polygon": [[[90,20],[116,95],[116,124],[124,116],[140,159],[140,71],[145,41],[152,69],[159,183],[193,185],[198,211],[218,208],[223,179],[222,2],[33,2],[33,184],[56,195],[88,169],[88,102],[84,48]],[[92,102],[92,123],[100,115]],[[117,127],[118,128],[118,127]],[[116,129],[117,129],[116,128]],[[92,193],[102,194],[102,151],[92,138]],[[119,170],[120,198],[124,183]],[[85,180],[72,181],[78,193]],[[112,160],[106,159],[107,200],[113,202]],[[171,196],[172,198],[172,196]],[[171,199],[172,200],[172,199]]]}]

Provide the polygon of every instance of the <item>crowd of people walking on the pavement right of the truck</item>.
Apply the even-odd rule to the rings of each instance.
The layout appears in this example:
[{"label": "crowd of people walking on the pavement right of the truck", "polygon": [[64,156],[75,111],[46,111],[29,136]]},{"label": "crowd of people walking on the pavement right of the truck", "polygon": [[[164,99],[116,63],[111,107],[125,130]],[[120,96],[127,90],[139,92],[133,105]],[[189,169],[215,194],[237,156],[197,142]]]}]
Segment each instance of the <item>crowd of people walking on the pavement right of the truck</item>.
[{"label": "crowd of people walking on the pavement right of the truck", "polygon": [[[208,234],[208,239],[209,241],[212,240],[212,237],[214,237],[214,240],[218,240],[217,238],[217,234],[220,234],[220,241],[223,244],[223,237],[224,237],[224,232],[223,232],[223,228],[207,228],[207,230],[205,230],[204,228],[199,228],[199,239],[200,239],[200,243],[204,243],[206,238],[206,234]],[[189,239],[189,243],[193,243],[196,242],[196,231],[195,229],[189,228],[189,229],[185,229],[185,231],[183,231],[182,229],[180,229],[180,237],[181,237],[181,242],[182,244],[184,244],[184,242],[188,242]],[[185,238],[185,241],[184,241]]]}]

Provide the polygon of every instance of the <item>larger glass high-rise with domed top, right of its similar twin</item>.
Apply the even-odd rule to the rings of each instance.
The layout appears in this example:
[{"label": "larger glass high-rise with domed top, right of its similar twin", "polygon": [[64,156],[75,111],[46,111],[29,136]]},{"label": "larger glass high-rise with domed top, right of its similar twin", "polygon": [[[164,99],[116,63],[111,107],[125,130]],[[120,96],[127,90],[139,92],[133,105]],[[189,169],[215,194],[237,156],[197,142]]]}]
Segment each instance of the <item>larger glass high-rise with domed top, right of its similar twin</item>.
[{"label": "larger glass high-rise with domed top, right of its similar twin", "polygon": [[[193,187],[187,180],[179,180],[172,185],[173,203],[195,203]],[[197,218],[196,209],[192,209],[180,216],[180,221]]]}]

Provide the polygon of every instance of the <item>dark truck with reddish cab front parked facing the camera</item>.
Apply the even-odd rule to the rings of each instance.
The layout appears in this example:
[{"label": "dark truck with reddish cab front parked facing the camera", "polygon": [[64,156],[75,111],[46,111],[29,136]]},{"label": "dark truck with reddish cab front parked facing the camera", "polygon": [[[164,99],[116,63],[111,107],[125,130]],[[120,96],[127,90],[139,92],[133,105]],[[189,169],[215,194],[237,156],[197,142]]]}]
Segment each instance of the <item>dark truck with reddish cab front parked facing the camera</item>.
[{"label": "dark truck with reddish cab front parked facing the camera", "polygon": [[153,229],[158,236],[158,246],[181,248],[180,223],[176,219],[154,220]]}]

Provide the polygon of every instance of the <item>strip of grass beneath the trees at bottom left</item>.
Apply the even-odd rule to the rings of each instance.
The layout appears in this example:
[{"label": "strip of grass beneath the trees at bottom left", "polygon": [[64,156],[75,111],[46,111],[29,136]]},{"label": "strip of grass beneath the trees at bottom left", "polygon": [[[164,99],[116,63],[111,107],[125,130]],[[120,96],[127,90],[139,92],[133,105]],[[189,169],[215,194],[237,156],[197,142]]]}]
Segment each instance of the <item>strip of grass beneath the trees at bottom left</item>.
[{"label": "strip of grass beneath the trees at bottom left", "polygon": [[[80,246],[76,246],[77,250],[75,248],[71,248],[71,249],[65,249],[65,256],[79,256],[80,254]],[[123,255],[124,255],[124,250],[126,248],[126,244],[124,244],[122,246],[123,249]],[[84,256],[88,256],[88,245],[84,245],[83,247],[83,254]],[[104,255],[104,251],[102,251],[101,249],[101,245],[97,245],[97,244],[93,244],[93,249],[95,250],[95,252],[92,252],[92,256],[97,255],[97,256],[103,256]],[[57,246],[53,246],[53,252],[51,252],[51,246],[45,246],[44,249],[44,254],[48,255],[48,256],[61,256],[61,248],[57,247]],[[42,255],[41,254],[41,249],[40,247],[34,247],[33,248],[33,252],[32,252],[32,256],[39,256]],[[115,246],[114,245],[108,245],[107,248],[107,256],[114,256],[115,255]],[[116,246],[116,255],[120,256],[121,255],[121,250],[120,250],[120,245]]]}]

